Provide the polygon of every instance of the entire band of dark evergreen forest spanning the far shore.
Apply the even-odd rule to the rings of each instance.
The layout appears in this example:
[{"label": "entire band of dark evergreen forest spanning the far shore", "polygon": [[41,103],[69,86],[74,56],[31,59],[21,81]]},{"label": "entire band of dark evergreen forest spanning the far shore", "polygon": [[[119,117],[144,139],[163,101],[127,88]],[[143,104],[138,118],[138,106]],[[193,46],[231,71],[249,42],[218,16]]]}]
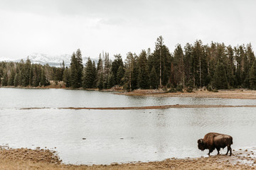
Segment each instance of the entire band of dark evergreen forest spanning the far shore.
[{"label": "entire band of dark evergreen forest spanning the far shore", "polygon": [[80,49],[73,52],[70,67],[26,62],[1,62],[1,86],[47,86],[50,80],[64,81],[73,89],[110,89],[115,85],[127,91],[134,89],[170,88],[177,91],[205,86],[213,89],[256,89],[256,61],[252,45],[232,47],[211,42],[203,45],[201,40],[184,47],[176,45],[174,52],[164,45],[159,36],[154,51],[142,50],[139,55],[128,52],[125,60],[114,55],[110,60],[102,52],[97,61],[88,58],[82,64]]}]

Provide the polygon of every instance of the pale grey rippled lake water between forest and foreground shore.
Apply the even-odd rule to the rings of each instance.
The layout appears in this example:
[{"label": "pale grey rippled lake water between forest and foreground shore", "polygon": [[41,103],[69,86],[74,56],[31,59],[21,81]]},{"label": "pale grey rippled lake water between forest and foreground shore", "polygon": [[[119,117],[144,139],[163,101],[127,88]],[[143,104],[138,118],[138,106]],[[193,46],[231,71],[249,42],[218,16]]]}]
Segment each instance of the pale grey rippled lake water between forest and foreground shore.
[{"label": "pale grey rippled lake water between forest and foreground shore", "polygon": [[[171,104],[250,105],[256,101],[0,88],[0,145],[32,149],[47,147],[57,151],[67,164],[147,162],[206,156],[208,151],[201,152],[197,140],[207,132],[233,136],[233,149],[256,147],[256,108],[58,109]],[[20,110],[29,107],[46,109]],[[226,148],[220,151],[225,152]]]}]

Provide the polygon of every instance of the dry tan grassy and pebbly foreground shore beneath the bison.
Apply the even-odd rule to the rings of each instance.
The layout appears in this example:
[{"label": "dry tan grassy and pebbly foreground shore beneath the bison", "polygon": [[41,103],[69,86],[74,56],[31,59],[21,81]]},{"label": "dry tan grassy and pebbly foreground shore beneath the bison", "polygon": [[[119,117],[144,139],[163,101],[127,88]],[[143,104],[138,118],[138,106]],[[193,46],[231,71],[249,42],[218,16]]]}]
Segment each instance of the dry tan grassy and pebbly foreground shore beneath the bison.
[{"label": "dry tan grassy and pebbly foreground shore beneath the bison", "polygon": [[48,149],[6,149],[0,147],[0,169],[256,169],[256,150],[233,150],[201,158],[165,159],[160,162],[135,162],[110,165],[61,164],[55,152]]}]

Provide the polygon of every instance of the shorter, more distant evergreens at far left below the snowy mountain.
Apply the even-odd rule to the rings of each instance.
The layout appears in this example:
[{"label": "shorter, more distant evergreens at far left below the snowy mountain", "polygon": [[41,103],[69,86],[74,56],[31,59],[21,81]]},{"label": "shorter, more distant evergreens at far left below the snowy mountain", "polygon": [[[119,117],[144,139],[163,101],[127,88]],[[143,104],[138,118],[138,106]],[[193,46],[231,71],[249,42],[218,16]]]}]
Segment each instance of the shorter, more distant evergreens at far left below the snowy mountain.
[{"label": "shorter, more distant evergreens at far left below the snowy mountain", "polygon": [[31,64],[26,62],[0,62],[1,86],[48,86],[50,80],[62,81],[64,67],[50,67],[48,64]]}]

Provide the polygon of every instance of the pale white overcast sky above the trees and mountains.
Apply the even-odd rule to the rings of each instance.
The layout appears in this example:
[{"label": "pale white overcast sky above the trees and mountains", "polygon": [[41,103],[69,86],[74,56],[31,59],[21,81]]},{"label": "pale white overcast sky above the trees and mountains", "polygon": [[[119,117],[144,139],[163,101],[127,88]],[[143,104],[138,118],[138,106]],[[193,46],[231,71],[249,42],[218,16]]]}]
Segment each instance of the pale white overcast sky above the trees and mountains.
[{"label": "pale white overcast sky above the trees and mountains", "polygon": [[159,35],[173,52],[177,43],[252,43],[256,1],[234,0],[0,0],[0,57],[40,52],[110,57],[151,48]]}]

